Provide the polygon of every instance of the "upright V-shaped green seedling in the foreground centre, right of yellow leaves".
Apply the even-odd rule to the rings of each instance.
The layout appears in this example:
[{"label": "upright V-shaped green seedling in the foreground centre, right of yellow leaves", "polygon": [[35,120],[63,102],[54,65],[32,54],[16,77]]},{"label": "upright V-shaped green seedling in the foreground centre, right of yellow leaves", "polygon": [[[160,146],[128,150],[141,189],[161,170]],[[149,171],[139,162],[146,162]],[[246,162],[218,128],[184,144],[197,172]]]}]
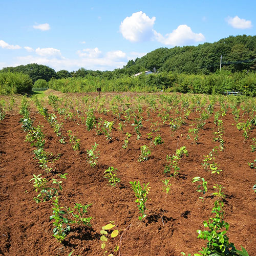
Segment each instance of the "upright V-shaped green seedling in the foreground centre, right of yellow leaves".
[{"label": "upright V-shaped green seedling in the foreground centre, right of yellow leaves", "polygon": [[139,208],[139,211],[141,213],[141,216],[139,216],[139,220],[143,220],[146,217],[145,210],[146,210],[146,201],[147,201],[147,194],[150,191],[149,182],[147,184],[143,184],[143,188],[140,185],[140,181],[130,181],[130,184],[132,185],[132,189],[135,193],[135,196],[137,199],[135,200]]}]

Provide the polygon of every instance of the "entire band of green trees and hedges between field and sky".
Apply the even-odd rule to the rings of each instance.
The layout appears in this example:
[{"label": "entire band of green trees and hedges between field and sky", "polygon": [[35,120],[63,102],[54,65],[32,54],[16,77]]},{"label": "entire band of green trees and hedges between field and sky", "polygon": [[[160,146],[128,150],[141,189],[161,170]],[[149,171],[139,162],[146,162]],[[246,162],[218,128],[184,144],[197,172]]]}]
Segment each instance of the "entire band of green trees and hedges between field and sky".
[{"label": "entire band of green trees and hedges between field and sky", "polygon": [[[238,35],[198,46],[159,48],[114,71],[55,72],[36,63],[5,67],[0,70],[0,93],[20,93],[32,87],[92,92],[101,87],[103,92],[221,94],[231,90],[256,96],[255,69],[256,36]],[[144,75],[146,70],[154,74]],[[133,77],[139,72],[142,75]]]}]

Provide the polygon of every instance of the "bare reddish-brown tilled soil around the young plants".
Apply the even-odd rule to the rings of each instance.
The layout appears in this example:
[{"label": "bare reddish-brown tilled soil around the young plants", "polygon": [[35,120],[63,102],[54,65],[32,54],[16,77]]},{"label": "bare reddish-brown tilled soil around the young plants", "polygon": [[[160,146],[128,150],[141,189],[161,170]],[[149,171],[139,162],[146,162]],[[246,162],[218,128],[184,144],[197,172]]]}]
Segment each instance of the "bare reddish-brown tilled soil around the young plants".
[{"label": "bare reddish-brown tilled soil around the young plants", "polygon": [[[151,114],[152,122],[158,120],[160,123],[157,114],[159,111]],[[196,118],[195,113],[191,113],[190,120],[174,134],[170,133],[167,124],[160,123],[158,134],[164,143],[155,145],[150,159],[140,163],[140,146],[150,143],[146,134],[150,132],[152,124],[146,121],[145,112],[141,139],[137,140],[133,126],[124,127],[125,133],[132,133],[126,150],[122,148],[125,133],[117,130],[119,121],[111,112],[97,114],[97,118],[115,121],[112,143],[106,141],[104,135],[97,136],[95,130],[88,132],[84,124],[77,125],[77,120],[65,120],[57,115],[58,120],[63,121],[62,133],[67,136],[66,132],[71,130],[80,139],[81,152],[78,153],[72,150],[69,143],[60,144],[50,124],[32,109],[33,125],[44,125],[42,131],[46,134],[46,150],[54,156],[60,154],[60,158],[52,164],[54,172],[44,174],[44,177],[58,178],[57,174],[68,173],[67,180],[63,181],[59,204],[73,207],[75,203],[92,203],[88,210],[89,216],[93,217],[92,227],[82,230],[82,233],[79,228],[72,227],[63,243],[52,236],[53,224],[49,219],[52,202],[36,204],[33,200],[37,194],[29,180],[33,174],[42,173],[42,170],[37,160],[33,159],[34,148],[25,142],[26,133],[19,123],[21,117],[17,111],[13,111],[0,122],[0,255],[68,255],[73,250],[72,255],[103,255],[100,230],[109,221],[114,221],[121,230],[121,236],[115,241],[108,241],[110,250],[115,243],[120,245],[119,255],[176,256],[181,255],[181,251],[186,254],[196,253],[206,245],[205,241],[197,239],[196,231],[204,230],[203,221],[213,217],[211,209],[215,198],[211,193],[214,192],[212,186],[215,184],[225,187],[224,219],[230,224],[227,232],[229,241],[239,249],[242,245],[249,255],[255,254],[256,201],[252,190],[255,171],[249,168],[247,162],[256,158],[249,146],[251,138],[256,137],[256,129],[245,140],[243,132],[232,125],[234,119],[230,110],[221,117],[225,150],[216,156],[216,162],[223,172],[212,175],[205,172],[201,163],[203,155],[218,145],[212,142],[213,116],[200,130],[198,144],[186,139],[191,127],[189,124]],[[99,144],[97,150],[100,157],[96,167],[91,167],[87,162],[86,151],[95,142]],[[170,180],[172,187],[166,196],[162,191],[162,180],[169,179],[163,174],[166,155],[174,154],[176,148],[183,145],[187,147],[189,155],[180,161],[180,175]],[[121,182],[116,187],[109,186],[108,180],[103,178],[103,172],[109,166],[118,169]],[[204,202],[199,199],[197,185],[191,183],[195,176],[208,181],[209,191]],[[139,210],[129,183],[135,180],[150,182],[144,222],[138,220]]]}]

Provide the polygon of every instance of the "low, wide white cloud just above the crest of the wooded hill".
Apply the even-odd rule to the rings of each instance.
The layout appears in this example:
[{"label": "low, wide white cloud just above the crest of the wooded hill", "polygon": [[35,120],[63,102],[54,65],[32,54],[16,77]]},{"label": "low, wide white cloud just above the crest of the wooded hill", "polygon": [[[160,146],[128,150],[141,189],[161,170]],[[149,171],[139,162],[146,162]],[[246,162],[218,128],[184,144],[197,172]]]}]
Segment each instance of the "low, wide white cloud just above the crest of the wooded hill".
[{"label": "low, wide white cloud just above the crest of the wooded hill", "polygon": [[157,41],[170,46],[182,46],[205,40],[202,33],[194,33],[187,25],[180,25],[177,29],[174,29],[172,33],[166,34],[165,36],[155,30],[154,34]]}]

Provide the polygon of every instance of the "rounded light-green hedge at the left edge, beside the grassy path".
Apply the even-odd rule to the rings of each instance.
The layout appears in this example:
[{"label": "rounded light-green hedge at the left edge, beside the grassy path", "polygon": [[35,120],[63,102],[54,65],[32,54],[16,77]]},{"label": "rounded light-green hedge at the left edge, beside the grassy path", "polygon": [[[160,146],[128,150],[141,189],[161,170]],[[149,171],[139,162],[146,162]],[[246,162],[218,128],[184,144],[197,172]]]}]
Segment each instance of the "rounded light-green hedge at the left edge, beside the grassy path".
[{"label": "rounded light-green hedge at the left edge, beside the grassy path", "polygon": [[29,75],[23,73],[0,73],[0,94],[22,93],[32,89],[33,82]]}]

